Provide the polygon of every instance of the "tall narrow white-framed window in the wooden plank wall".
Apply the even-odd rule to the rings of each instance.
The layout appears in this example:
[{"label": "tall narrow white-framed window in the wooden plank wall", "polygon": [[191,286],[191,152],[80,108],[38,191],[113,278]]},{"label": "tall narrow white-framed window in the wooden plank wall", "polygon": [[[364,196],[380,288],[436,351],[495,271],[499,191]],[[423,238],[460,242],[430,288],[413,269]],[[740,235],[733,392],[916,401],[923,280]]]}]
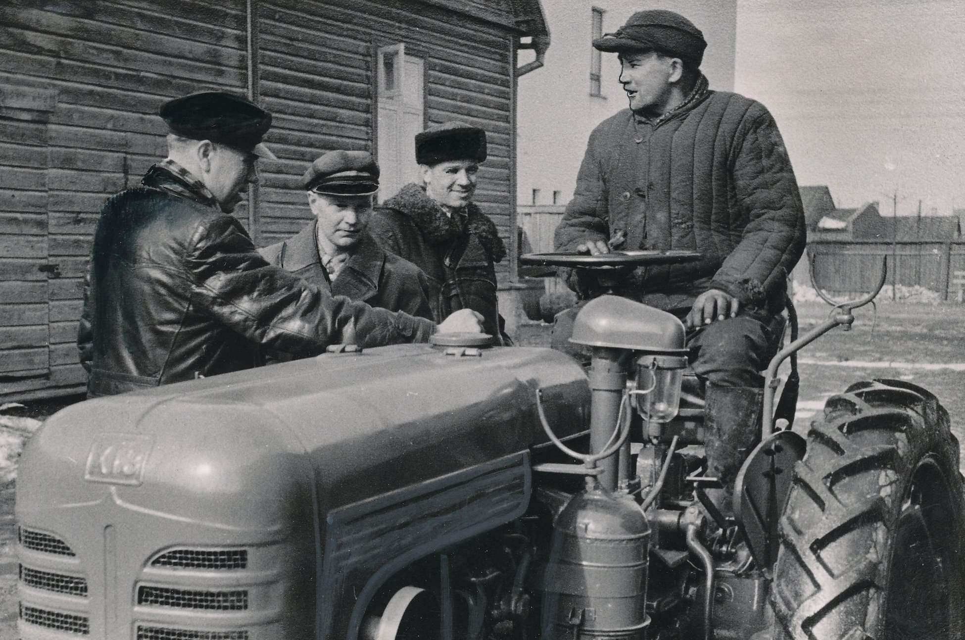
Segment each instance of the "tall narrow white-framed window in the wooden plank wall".
[{"label": "tall narrow white-framed window in the wooden plank wall", "polygon": [[378,154],[378,200],[396,195],[412,181],[420,181],[415,136],[423,130],[423,61],[405,53],[404,44],[378,49],[375,150]]}]

